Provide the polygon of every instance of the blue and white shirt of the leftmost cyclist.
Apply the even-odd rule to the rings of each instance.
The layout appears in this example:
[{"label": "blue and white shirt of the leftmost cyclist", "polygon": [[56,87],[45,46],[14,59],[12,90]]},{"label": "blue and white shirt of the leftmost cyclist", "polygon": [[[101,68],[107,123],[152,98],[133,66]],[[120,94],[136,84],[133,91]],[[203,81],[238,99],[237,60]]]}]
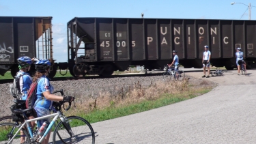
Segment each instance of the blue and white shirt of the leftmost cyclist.
[{"label": "blue and white shirt of the leftmost cyclist", "polygon": [[[20,76],[22,74],[23,76]],[[20,92],[23,94],[21,100],[27,99],[27,91],[32,83],[32,78],[27,72],[18,71],[16,76],[20,76],[19,84],[20,84]]]}]

